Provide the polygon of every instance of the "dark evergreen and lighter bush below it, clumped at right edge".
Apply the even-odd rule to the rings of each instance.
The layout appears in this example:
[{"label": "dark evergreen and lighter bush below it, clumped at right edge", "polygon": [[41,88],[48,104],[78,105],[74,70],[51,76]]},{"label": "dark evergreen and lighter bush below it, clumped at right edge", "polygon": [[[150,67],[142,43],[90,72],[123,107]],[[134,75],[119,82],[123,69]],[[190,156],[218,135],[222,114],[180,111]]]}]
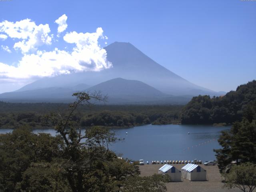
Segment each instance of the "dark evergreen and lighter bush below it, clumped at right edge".
[{"label": "dark evergreen and lighter bush below it, clumped at right edge", "polygon": [[215,149],[224,187],[252,192],[256,188],[256,101],[243,109],[241,121],[220,134]]}]

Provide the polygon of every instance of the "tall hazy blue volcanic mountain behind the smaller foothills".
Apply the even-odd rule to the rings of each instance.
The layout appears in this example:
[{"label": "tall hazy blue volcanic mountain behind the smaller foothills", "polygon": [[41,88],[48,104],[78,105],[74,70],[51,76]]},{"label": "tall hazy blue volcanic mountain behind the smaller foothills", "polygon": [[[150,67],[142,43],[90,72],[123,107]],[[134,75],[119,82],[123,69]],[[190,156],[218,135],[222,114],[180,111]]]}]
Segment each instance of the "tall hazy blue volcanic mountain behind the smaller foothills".
[{"label": "tall hazy blue volcanic mountain behind the smaller foothills", "polygon": [[[130,43],[114,42],[105,47],[105,49],[108,60],[112,62],[112,68],[100,72],[82,72],[60,75],[52,78],[42,78],[17,90],[16,97],[18,98],[18,92],[42,90],[52,87],[72,90],[74,87],[77,87],[81,90],[78,85],[85,84],[84,87],[87,89],[91,86],[96,86],[102,82],[107,82],[116,78],[137,80],[162,92],[162,94],[172,96],[197,96],[199,94],[219,96],[223,94],[188,82],[184,78],[150,59]],[[134,86],[135,85],[136,84],[134,84]],[[109,85],[108,87],[110,88]],[[104,86],[98,86],[98,88],[104,89]],[[62,90],[62,92],[63,91],[64,90]],[[11,96],[11,94],[6,93],[4,95]],[[55,94],[55,96],[57,99],[57,94]],[[3,95],[0,94],[0,98],[3,98]],[[25,96],[22,98],[25,98]],[[29,95],[27,98],[29,98]]]}]

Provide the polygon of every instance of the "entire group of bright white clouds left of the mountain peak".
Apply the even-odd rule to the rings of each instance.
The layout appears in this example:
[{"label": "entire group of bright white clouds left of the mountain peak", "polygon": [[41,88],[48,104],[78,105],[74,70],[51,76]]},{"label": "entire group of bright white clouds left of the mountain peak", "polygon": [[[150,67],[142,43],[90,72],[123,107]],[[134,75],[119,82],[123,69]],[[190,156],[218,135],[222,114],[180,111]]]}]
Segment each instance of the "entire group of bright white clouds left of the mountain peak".
[{"label": "entire group of bright white clouds left of the mountain peak", "polygon": [[[67,16],[64,14],[55,22],[58,24],[58,34],[67,28]],[[102,28],[93,33],[67,32],[63,40],[72,51],[53,48],[52,51],[40,50],[43,45],[52,46],[53,34],[48,24],[36,25],[30,19],[17,22],[0,22],[0,38],[13,38],[13,48],[23,56],[17,61],[17,66],[11,66],[0,60],[0,81],[17,82],[31,78],[56,76],[74,72],[100,71],[112,67],[107,60],[106,50],[100,47],[98,40],[107,37]],[[8,46],[1,46],[11,52]]]}]

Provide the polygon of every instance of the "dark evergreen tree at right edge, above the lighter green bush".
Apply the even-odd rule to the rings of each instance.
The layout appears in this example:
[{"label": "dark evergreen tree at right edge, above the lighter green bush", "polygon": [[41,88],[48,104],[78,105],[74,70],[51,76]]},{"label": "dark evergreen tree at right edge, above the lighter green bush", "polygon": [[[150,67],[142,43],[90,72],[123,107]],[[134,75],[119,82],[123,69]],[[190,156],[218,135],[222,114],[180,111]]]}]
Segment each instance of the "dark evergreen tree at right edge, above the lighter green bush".
[{"label": "dark evergreen tree at right edge, above the lighter green bush", "polygon": [[241,122],[230,131],[223,131],[218,142],[222,149],[214,150],[221,172],[228,172],[231,162],[256,164],[256,102],[251,103]]}]

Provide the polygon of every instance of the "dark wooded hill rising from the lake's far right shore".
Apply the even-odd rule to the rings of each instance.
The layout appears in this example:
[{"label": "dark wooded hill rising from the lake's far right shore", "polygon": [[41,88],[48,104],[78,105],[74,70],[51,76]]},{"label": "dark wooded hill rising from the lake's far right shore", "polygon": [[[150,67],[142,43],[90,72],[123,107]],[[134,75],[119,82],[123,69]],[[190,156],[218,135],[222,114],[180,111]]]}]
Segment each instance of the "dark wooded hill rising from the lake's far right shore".
[{"label": "dark wooded hill rising from the lake's far right shore", "polygon": [[231,124],[242,120],[249,105],[256,100],[256,80],[237,87],[225,96],[197,96],[180,114],[182,124]]}]

